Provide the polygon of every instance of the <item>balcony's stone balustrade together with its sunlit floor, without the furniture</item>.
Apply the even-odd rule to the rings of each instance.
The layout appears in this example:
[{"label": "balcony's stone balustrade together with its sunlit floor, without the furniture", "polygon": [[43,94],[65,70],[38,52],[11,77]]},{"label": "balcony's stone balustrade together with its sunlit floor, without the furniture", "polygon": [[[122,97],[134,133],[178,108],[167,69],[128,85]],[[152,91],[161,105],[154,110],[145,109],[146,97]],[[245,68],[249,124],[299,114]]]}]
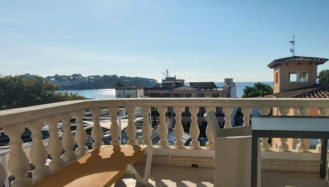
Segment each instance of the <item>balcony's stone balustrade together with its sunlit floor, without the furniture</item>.
[{"label": "balcony's stone balustrade together with its sunlit floor, without the furniture", "polygon": [[[242,108],[242,113],[244,114],[243,125],[249,125],[249,116],[252,113],[253,107],[258,107],[262,115],[268,115],[271,108],[277,110],[283,116],[289,113],[296,116],[305,116],[310,113],[310,110],[314,111],[314,109],[319,111],[318,116],[329,115],[329,99],[279,98],[127,98],[84,100],[0,111],[0,127],[3,133],[10,138],[9,144],[11,148],[9,159],[1,159],[0,183],[6,179],[4,168],[8,168],[8,176],[12,175],[15,177],[15,180],[11,182],[12,187],[27,187],[87,153],[89,151],[85,146],[87,134],[83,127],[83,116],[86,109],[93,116],[93,149],[97,149],[103,145],[101,141],[103,131],[100,125],[99,115],[102,109],[105,108],[108,109],[112,116],[110,134],[113,140],[111,144],[121,144],[119,140],[120,129],[116,117],[119,107],[125,107],[125,111],[128,114],[127,136],[129,140],[127,144],[137,144],[137,140],[135,139],[136,125],[134,124],[134,111],[135,107],[140,107],[144,121],[142,127],[144,140],[142,142],[143,144],[153,146],[150,139],[152,129],[149,124],[149,113],[153,106],[157,106],[160,114],[158,133],[161,141],[159,145],[154,145],[153,166],[151,169],[150,183],[148,184],[150,187],[169,187],[173,183],[177,187],[213,186],[215,166],[214,140],[210,128],[207,128],[206,134],[209,141],[206,146],[200,146],[200,142],[198,141],[200,130],[197,118],[200,107],[205,107],[207,111],[216,109],[216,107],[222,107],[222,111],[225,114],[225,128],[231,126],[230,115],[234,107]],[[174,135],[177,141],[173,146],[168,145],[168,141],[166,140],[168,130],[165,122],[167,107],[173,107],[173,113],[175,114],[181,114],[185,107],[189,107],[192,119],[189,131],[192,138],[190,146],[184,146],[184,142],[181,141],[184,133],[181,124],[181,115],[176,115],[175,117]],[[76,119],[77,125],[74,136],[70,130],[70,120],[73,117]],[[61,139],[58,136],[57,128],[60,121],[63,125]],[[45,124],[49,126],[50,133],[49,142],[46,146],[42,142],[41,132]],[[32,131],[33,144],[30,151],[23,150],[22,148],[21,134],[24,132],[25,126]],[[298,139],[292,140],[292,142],[299,141],[297,148],[296,146],[292,146],[292,148],[288,149],[288,145],[286,144],[287,139],[280,138],[278,140],[278,148],[276,148],[276,146],[272,147],[267,143],[268,138],[261,139],[262,186],[326,186],[326,180],[319,178],[319,152],[321,150],[321,144],[318,144],[315,149],[308,149],[307,140]],[[75,151],[72,151],[75,144],[78,147]],[[62,154],[63,150],[65,150],[64,154]],[[48,159],[48,155],[51,156],[52,160]],[[7,156],[1,156],[1,158]],[[142,163],[143,160],[139,162]],[[28,173],[30,163],[33,163],[35,166],[35,170],[32,172],[32,180],[25,177]],[[164,167],[166,170],[164,170]],[[137,163],[137,169],[140,168],[141,166]],[[183,177],[180,177],[180,175]],[[124,175],[117,182],[118,184],[114,184],[113,186],[124,186],[124,184],[127,187],[131,184],[135,186],[134,180],[128,180],[127,177],[130,179],[131,176]],[[275,180],[277,178],[280,180]]]}]

